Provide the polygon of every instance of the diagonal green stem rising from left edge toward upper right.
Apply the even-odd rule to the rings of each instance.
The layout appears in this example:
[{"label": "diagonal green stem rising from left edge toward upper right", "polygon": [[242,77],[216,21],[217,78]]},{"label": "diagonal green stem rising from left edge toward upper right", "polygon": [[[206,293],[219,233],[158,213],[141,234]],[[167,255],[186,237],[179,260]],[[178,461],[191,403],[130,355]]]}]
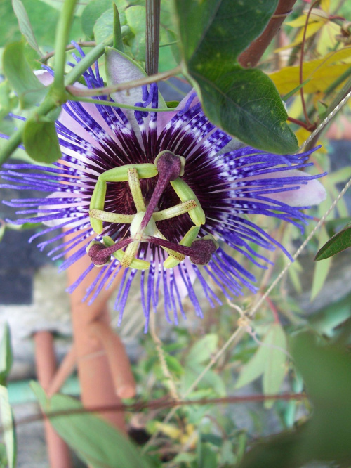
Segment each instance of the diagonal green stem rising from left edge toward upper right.
[{"label": "diagonal green stem rising from left edge toward upper right", "polygon": [[[86,56],[82,58],[79,63],[77,63],[74,69],[66,75],[65,86],[69,86],[70,84],[76,82],[77,79],[81,76],[81,74],[85,72],[85,70],[88,67],[93,65],[95,60],[98,60],[98,58],[102,56],[102,54],[105,51],[105,46],[111,45],[112,37],[107,38],[104,42],[98,44],[98,46],[94,47],[89,53],[87,53]],[[48,114],[48,112],[55,109],[56,107],[58,107],[58,105],[61,104],[62,103],[55,102],[51,94],[48,93],[48,96],[46,96],[43,103],[41,103],[41,105],[39,105],[38,108],[35,108],[32,111],[28,119],[37,119],[41,115],[46,115]],[[22,131],[24,126],[25,122],[18,124],[18,130],[16,130],[15,133],[11,135],[11,138],[9,138],[8,141],[6,141],[6,143],[4,144],[0,152],[0,164],[3,164],[8,159],[8,157],[11,156],[13,151],[15,151],[18,145],[22,143]]]}]

